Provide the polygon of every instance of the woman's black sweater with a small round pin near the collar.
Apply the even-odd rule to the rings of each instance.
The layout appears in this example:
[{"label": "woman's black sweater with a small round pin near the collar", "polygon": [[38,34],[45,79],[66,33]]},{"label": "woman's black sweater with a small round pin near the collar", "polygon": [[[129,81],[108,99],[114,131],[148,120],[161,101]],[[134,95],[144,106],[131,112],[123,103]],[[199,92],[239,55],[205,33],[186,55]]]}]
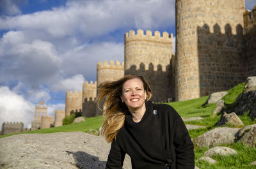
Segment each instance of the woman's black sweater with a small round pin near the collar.
[{"label": "woman's black sweater with a small round pin near the collar", "polygon": [[181,117],[169,105],[146,103],[140,122],[126,115],[111,144],[107,169],[122,168],[125,153],[133,169],[195,168],[193,143]]}]

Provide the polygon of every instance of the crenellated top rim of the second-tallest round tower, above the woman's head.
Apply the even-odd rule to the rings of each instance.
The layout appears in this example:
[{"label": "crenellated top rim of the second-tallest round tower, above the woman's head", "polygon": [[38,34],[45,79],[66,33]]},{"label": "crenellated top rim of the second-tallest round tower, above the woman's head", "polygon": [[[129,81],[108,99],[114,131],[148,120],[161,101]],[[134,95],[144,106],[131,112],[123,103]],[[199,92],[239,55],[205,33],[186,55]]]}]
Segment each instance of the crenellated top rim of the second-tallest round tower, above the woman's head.
[{"label": "crenellated top rim of the second-tallest round tower, above the woman's head", "polygon": [[154,32],[154,36],[152,35],[152,31],[144,31],[142,29],[137,30],[137,34],[135,31],[129,31],[129,33],[125,33],[125,42],[126,41],[133,41],[133,40],[148,40],[148,41],[159,41],[159,42],[166,42],[172,43],[173,42],[173,34],[168,34],[167,32],[163,32],[162,36],[159,31]]}]

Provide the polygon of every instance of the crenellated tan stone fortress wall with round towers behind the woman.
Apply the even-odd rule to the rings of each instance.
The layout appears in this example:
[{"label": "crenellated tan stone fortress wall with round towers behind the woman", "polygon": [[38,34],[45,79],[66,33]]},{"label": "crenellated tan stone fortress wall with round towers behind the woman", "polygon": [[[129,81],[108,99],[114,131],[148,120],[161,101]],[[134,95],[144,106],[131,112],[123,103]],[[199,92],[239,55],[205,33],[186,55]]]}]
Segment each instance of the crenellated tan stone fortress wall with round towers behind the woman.
[{"label": "crenellated tan stone fortress wall with round towers behind the woman", "polygon": [[84,85],[83,96],[67,92],[66,115],[81,108],[84,116],[98,115],[97,87],[131,73],[147,78],[154,102],[199,98],[256,75],[256,6],[251,12],[244,0],[176,0],[175,5],[175,55],[172,34],[129,31],[125,62],[99,62],[97,83]]}]

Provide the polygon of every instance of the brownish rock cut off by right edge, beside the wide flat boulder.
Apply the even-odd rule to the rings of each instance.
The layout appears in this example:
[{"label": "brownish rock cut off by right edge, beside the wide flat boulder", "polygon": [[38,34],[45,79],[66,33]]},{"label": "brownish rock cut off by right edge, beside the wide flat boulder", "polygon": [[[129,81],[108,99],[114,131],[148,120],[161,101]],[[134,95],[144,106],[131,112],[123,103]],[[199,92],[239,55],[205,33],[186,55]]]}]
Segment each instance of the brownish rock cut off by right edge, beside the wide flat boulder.
[{"label": "brownish rock cut off by right edge, beside the wide flat boulder", "polygon": [[241,133],[239,132],[239,142],[243,142],[245,145],[256,147],[256,124],[251,125],[248,129],[243,129]]}]

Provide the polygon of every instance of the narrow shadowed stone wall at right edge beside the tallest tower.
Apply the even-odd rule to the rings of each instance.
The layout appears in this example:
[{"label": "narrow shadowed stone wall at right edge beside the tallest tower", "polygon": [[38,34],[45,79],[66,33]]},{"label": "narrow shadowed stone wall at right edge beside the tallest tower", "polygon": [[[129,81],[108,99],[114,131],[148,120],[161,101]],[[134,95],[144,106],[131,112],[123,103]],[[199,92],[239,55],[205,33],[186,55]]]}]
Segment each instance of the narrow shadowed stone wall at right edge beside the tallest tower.
[{"label": "narrow shadowed stone wall at right edge beside the tallest tower", "polygon": [[256,6],[252,12],[250,10],[244,12],[244,38],[246,77],[252,77],[256,75]]}]

